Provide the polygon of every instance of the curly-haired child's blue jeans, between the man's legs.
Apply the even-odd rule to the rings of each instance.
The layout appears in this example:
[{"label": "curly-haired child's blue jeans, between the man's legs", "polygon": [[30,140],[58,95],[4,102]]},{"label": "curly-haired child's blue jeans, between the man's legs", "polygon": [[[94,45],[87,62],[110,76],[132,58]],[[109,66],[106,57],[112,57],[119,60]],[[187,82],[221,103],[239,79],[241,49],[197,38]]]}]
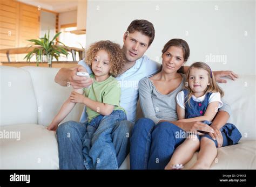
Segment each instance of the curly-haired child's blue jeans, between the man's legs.
[{"label": "curly-haired child's blue jeans, between the man's legs", "polygon": [[108,116],[99,115],[87,124],[83,144],[86,169],[118,169],[111,132],[123,120],[127,120],[125,112],[116,110]]}]

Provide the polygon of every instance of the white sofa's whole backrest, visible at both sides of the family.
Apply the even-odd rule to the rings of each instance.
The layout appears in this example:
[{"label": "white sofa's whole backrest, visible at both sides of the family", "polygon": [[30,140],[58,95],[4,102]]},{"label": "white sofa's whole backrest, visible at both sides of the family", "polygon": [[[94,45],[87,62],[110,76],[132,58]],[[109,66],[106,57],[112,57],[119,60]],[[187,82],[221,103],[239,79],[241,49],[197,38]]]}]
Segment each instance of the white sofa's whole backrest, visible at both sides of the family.
[{"label": "white sofa's whole backrest, visible at both sides of the family", "polygon": [[[48,126],[72,91],[72,87],[55,83],[58,70],[0,66],[0,124],[34,123]],[[240,75],[236,81],[227,81],[219,85],[225,92],[223,99],[232,108],[229,122],[238,127],[242,140],[256,140],[255,75]],[[82,111],[83,105],[77,104],[64,121],[79,121]],[[137,112],[137,116],[142,117],[141,109]]]}]

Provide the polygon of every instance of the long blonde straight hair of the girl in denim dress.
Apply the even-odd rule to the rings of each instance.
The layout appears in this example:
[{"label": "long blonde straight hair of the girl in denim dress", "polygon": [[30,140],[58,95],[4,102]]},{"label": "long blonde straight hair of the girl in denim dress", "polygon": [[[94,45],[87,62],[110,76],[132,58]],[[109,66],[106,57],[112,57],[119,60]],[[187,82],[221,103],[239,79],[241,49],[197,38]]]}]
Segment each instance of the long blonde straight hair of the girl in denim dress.
[{"label": "long blonde straight hair of the girl in denim dress", "polygon": [[189,91],[189,93],[187,95],[187,101],[185,102],[185,104],[188,102],[188,105],[190,106],[190,99],[191,99],[191,97],[193,95],[193,91],[191,90],[191,88],[188,85],[188,78],[190,76],[191,68],[204,69],[204,70],[206,70],[208,72],[208,79],[209,79],[210,85],[207,85],[207,88],[206,88],[204,94],[206,94],[208,92],[219,92],[221,97],[224,96],[224,91],[216,83],[211,68],[206,63],[204,63],[204,62],[195,62],[195,63],[191,64],[191,66],[190,66],[190,68],[188,68],[188,71],[187,71],[187,74],[186,74],[186,85],[185,85],[185,88]]}]

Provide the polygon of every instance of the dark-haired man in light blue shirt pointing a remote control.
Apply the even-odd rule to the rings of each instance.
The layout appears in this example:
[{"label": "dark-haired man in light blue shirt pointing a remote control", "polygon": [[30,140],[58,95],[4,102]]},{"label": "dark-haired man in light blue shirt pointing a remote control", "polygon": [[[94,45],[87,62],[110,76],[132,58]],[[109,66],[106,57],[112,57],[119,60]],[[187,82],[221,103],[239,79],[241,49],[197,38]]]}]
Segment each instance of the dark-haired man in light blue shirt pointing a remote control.
[{"label": "dark-haired man in light blue shirt pointing a remote control", "polygon": [[[159,70],[160,64],[150,60],[144,55],[154,40],[153,24],[147,20],[133,20],[123,37],[123,52],[126,57],[126,64],[122,74],[117,77],[121,85],[120,106],[127,113],[129,121],[121,121],[117,124],[112,132],[112,140],[116,149],[118,167],[124,161],[129,153],[129,138],[131,136],[131,128],[136,120],[136,108],[138,101],[138,82],[145,76],[150,76]],[[186,72],[188,67],[184,67]],[[79,77],[76,75],[78,71],[91,73],[90,68],[84,61],[78,62],[73,68],[62,68],[55,77],[55,82],[67,86],[72,85],[73,88],[85,88],[92,84],[91,78]],[[232,80],[237,78],[232,71],[215,71],[213,72],[218,82],[225,82],[220,77],[230,77]],[[216,117],[217,118],[217,117]],[[86,120],[85,110],[80,119],[81,122]],[[197,124],[200,130],[204,131],[207,125],[203,123]],[[186,128],[193,128],[188,126]],[[80,123],[75,121],[64,123],[57,129],[57,138],[59,143],[59,167],[60,169],[85,169],[83,160],[83,135],[86,129],[81,128]],[[69,133],[69,137],[67,134]]]}]

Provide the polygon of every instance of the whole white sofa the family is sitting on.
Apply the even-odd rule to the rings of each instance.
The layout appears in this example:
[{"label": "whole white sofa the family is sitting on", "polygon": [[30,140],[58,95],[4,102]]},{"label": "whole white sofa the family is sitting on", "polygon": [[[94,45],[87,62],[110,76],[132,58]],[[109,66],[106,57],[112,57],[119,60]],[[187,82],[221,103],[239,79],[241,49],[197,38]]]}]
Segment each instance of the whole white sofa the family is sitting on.
[{"label": "whole white sofa the family is sitting on", "polygon": [[[71,87],[54,82],[57,71],[0,66],[0,169],[59,168],[56,134],[46,130],[46,126],[69,97]],[[211,168],[256,169],[255,75],[240,76],[221,87],[232,107],[230,121],[239,128],[242,139],[238,145],[219,148]],[[78,121],[82,110],[83,105],[77,104],[65,121]],[[196,155],[185,168],[196,161]],[[120,169],[129,168],[127,156]]]}]

